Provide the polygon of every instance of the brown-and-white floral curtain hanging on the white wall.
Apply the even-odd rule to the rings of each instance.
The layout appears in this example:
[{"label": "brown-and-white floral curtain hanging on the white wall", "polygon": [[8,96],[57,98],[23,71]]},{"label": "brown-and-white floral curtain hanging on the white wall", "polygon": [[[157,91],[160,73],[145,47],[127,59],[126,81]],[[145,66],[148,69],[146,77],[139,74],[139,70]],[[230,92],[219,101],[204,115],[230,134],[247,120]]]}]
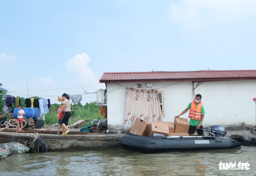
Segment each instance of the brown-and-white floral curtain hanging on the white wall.
[{"label": "brown-and-white floral curtain hanging on the white wall", "polygon": [[126,88],[124,132],[130,131],[137,117],[150,122],[162,121],[157,89]]}]

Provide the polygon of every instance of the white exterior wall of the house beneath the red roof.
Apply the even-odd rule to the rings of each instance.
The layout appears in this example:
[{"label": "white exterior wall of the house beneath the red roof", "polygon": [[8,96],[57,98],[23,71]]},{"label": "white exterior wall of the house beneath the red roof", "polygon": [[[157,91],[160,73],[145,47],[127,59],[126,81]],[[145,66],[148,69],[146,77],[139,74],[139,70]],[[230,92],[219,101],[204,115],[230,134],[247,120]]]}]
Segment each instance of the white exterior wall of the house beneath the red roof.
[{"label": "white exterior wall of the house beneath the red roof", "polygon": [[[179,115],[193,100],[192,82],[151,82],[152,87],[145,89],[163,91],[164,121],[173,122],[174,116]],[[137,83],[107,84],[108,130],[123,129],[126,87],[136,86]],[[196,87],[197,83],[194,83]],[[195,88],[195,94],[202,95],[202,103],[206,114],[203,126],[222,124],[224,126],[255,125],[256,80],[243,81],[213,81],[202,82]],[[188,112],[181,116],[188,117]]]}]

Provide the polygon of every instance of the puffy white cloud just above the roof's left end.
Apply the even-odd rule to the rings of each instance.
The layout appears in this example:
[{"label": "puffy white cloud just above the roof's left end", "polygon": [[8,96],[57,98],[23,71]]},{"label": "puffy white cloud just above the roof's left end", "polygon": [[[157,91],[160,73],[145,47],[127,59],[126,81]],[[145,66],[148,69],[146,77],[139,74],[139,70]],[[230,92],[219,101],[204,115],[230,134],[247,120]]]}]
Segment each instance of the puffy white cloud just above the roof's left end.
[{"label": "puffy white cloud just above the roof's left end", "polygon": [[[90,61],[90,57],[86,53],[77,54],[72,59],[67,61],[67,68],[70,71],[76,72],[81,81],[94,81],[96,82],[96,76],[92,70],[87,66]],[[97,80],[98,82],[99,80]]]}]

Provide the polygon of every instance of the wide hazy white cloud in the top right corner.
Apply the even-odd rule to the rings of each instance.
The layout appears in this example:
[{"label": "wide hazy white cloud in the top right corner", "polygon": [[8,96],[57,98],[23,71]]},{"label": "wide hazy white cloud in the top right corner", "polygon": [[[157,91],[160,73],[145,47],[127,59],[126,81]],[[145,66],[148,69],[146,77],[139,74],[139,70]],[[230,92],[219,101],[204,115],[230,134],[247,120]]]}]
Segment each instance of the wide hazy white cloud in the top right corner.
[{"label": "wide hazy white cloud in the top right corner", "polygon": [[170,18],[190,28],[256,15],[255,0],[183,0],[169,8]]}]

